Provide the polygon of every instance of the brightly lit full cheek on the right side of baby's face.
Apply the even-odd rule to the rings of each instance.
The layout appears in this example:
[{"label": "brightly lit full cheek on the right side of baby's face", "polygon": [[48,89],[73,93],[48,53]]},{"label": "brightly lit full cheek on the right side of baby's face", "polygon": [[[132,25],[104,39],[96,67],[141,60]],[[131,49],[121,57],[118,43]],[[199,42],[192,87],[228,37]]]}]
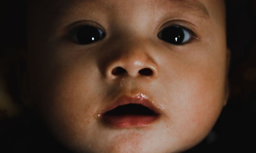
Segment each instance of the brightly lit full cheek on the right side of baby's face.
[{"label": "brightly lit full cheek on the right side of baby's face", "polygon": [[168,95],[163,103],[170,119],[168,133],[181,144],[202,140],[220,115],[225,99],[226,56],[225,51],[219,51],[219,58],[212,54],[190,56],[180,62],[169,57],[173,61],[165,64],[171,68],[161,71],[167,72],[162,88],[168,89],[163,91]]}]

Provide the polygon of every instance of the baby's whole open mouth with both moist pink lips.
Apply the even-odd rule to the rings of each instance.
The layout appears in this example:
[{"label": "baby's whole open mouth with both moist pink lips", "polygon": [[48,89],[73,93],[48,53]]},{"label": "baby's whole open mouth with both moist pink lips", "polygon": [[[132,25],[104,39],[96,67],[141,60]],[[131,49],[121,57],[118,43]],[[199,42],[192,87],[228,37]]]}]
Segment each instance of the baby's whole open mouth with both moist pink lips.
[{"label": "baby's whole open mouth with both moist pink lips", "polygon": [[143,127],[155,122],[160,114],[152,101],[140,94],[123,96],[114,106],[102,114],[104,123],[117,128]]}]

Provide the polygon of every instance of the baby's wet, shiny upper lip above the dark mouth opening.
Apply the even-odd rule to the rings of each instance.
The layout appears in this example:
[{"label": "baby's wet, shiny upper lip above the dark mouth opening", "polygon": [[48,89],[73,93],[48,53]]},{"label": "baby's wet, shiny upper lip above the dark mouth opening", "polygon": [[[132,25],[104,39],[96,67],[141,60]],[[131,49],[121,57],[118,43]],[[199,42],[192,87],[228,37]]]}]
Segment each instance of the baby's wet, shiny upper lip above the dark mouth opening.
[{"label": "baby's wet, shiny upper lip above the dark mouth opening", "polygon": [[114,104],[106,108],[102,114],[109,112],[118,106],[131,104],[131,103],[141,104],[147,108],[150,108],[150,110],[152,110],[155,114],[160,114],[159,108],[157,108],[154,105],[154,102],[144,94],[136,94],[134,96],[128,96],[128,95],[120,96],[115,100]]}]

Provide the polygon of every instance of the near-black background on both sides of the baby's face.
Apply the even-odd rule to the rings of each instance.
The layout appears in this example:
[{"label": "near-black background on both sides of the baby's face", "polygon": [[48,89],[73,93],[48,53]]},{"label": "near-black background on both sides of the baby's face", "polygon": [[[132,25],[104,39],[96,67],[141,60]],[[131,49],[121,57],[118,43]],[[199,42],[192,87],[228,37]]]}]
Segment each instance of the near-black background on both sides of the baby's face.
[{"label": "near-black background on both sides of the baby's face", "polygon": [[[0,6],[0,152],[66,152],[20,104],[18,70],[23,62],[16,49],[25,43],[24,3],[1,1]],[[227,1],[229,100],[211,133],[187,152],[256,152],[255,20],[256,1]]]}]

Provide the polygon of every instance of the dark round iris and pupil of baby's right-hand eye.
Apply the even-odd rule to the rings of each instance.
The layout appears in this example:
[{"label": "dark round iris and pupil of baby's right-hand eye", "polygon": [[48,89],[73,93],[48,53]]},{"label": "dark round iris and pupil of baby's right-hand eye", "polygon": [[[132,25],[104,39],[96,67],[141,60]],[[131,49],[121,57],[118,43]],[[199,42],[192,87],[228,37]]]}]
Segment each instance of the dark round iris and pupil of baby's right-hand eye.
[{"label": "dark round iris and pupil of baby's right-hand eye", "polygon": [[162,31],[161,39],[175,45],[180,45],[184,39],[183,29],[174,26],[167,27]]}]

